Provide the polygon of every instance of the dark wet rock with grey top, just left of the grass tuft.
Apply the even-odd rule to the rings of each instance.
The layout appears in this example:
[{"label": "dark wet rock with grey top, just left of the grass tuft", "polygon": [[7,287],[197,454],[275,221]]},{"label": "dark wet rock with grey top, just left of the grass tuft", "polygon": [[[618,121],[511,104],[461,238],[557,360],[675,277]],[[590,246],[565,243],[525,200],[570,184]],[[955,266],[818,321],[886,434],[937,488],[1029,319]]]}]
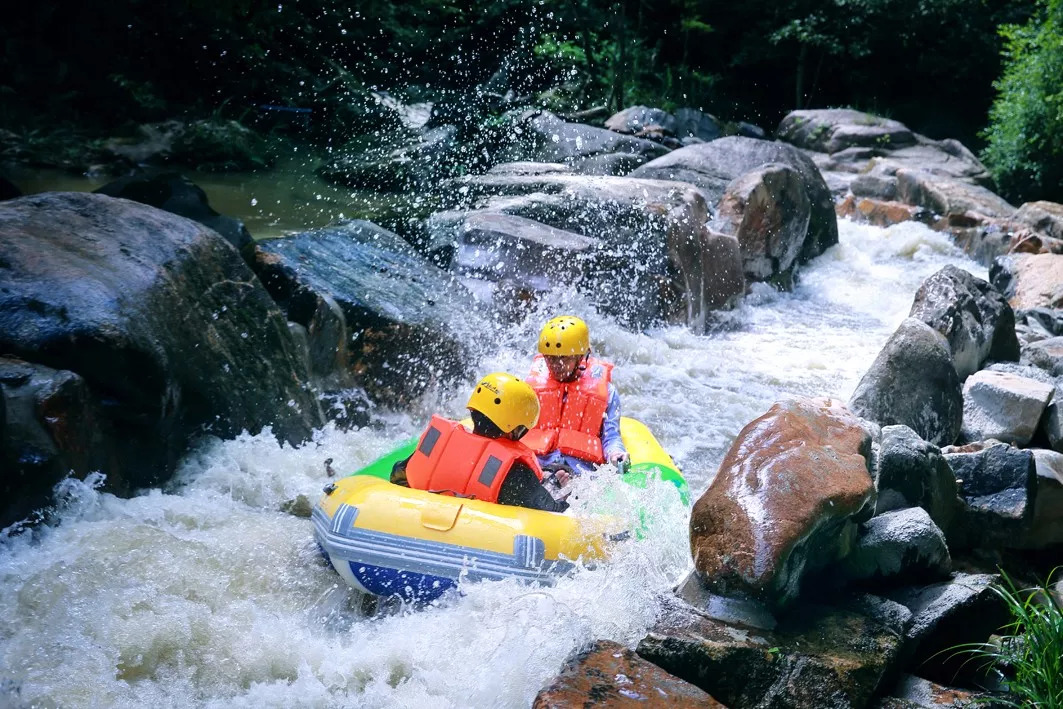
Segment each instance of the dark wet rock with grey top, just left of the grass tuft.
[{"label": "dark wet rock with grey top, just left of the grass tuft", "polygon": [[1007,608],[992,589],[999,580],[995,574],[954,574],[947,581],[887,592],[912,611],[905,631],[907,666],[934,681],[977,676],[979,663],[954,648],[985,642],[1007,622]]}]

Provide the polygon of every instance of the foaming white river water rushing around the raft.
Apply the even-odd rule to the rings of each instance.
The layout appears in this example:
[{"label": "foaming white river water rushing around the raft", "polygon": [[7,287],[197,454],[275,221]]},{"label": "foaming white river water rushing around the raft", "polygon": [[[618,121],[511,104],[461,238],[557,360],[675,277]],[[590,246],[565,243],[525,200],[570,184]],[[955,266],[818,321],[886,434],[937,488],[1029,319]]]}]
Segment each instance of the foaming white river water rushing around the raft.
[{"label": "foaming white river water rushing around the raft", "polygon": [[[985,277],[919,224],[840,225],[793,293],[755,289],[707,335],[626,332],[556,294],[490,333],[479,370],[523,370],[545,317],[586,315],[595,351],[618,365],[625,413],[656,432],[696,495],[773,402],[847,398],[923,278],[946,264]],[[456,415],[462,394],[435,403]],[[355,470],[422,423],[377,411],[298,450],[268,434],[206,440],[172,485],[131,500],[68,482],[54,523],[0,542],[0,707],[526,707],[586,643],[638,642],[690,565],[688,509],[667,486],[610,503],[648,508],[648,539],[556,587],[470,584],[433,607],[360,612],[309,521],[280,507],[317,497],[325,458]],[[577,507],[608,485],[581,480]]]}]

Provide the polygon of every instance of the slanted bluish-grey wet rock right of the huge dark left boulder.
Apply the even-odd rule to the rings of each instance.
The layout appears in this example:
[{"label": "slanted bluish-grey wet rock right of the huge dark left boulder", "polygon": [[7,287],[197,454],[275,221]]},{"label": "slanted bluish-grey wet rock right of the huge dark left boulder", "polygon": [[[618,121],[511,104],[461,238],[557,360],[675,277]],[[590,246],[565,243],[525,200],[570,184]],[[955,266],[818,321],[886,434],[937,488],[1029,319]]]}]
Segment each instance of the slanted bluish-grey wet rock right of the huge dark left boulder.
[{"label": "slanted bluish-grey wet rock right of the huge dark left boulder", "polygon": [[374,401],[408,402],[463,375],[455,326],[475,313],[472,294],[396,234],[353,220],[271,239],[256,244],[254,269],[304,326],[325,299],[339,306],[351,374]]}]

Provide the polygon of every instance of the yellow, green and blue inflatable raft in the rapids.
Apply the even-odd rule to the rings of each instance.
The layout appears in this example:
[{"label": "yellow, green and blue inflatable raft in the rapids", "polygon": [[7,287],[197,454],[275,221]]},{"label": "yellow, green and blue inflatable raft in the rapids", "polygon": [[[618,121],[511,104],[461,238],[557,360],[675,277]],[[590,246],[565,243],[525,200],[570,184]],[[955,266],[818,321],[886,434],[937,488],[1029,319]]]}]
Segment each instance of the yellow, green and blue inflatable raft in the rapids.
[{"label": "yellow, green and blue inflatable raft in the rapids", "polygon": [[[645,487],[687,484],[657,439],[635,419],[621,419],[631,462],[621,477]],[[411,490],[389,482],[409,456],[412,439],[357,473],[337,480],[314,509],[314,536],[333,568],[353,588],[405,601],[433,601],[459,580],[517,578],[551,584],[578,560],[602,559],[623,538],[608,518],[566,514]]]}]

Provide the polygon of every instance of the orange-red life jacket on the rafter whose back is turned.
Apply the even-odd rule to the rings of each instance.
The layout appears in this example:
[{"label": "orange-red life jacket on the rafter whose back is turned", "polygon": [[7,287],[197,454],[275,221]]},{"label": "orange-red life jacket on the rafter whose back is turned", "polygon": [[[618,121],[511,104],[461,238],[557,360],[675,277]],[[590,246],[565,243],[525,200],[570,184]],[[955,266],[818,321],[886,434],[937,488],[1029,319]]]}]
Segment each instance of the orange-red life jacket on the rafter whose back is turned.
[{"label": "orange-red life jacket on the rafter whose back is turned", "polygon": [[517,461],[542,479],[539,461],[520,441],[477,436],[457,421],[433,416],[406,463],[406,480],[417,490],[499,502]]}]

